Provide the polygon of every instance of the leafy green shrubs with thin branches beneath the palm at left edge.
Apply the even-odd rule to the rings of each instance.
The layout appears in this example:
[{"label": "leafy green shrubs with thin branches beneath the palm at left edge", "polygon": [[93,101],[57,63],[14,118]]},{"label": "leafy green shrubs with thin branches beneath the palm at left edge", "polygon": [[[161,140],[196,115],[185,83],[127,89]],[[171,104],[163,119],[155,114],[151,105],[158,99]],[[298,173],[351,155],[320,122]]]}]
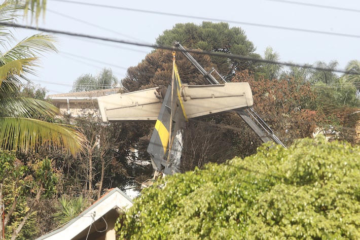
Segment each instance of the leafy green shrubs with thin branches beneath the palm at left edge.
[{"label": "leafy green shrubs with thin branches beneath the palm at left edge", "polygon": [[[35,208],[41,198],[56,192],[57,182],[56,169],[50,159],[23,161],[14,152],[0,151],[0,203],[5,205],[6,213],[0,230],[4,224],[7,239],[29,239],[37,233]],[[31,201],[26,204],[28,199]]]}]

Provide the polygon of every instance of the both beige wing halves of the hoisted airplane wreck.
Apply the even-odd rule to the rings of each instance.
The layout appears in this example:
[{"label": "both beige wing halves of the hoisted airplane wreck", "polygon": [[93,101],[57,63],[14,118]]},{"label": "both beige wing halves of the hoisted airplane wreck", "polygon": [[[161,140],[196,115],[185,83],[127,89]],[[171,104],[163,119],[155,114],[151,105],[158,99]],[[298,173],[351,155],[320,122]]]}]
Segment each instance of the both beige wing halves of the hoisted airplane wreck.
[{"label": "both beige wing halves of the hoisted airplane wreck", "polygon": [[[165,100],[159,97],[159,91],[160,88],[155,87],[98,97],[102,121],[156,121]],[[189,119],[253,106],[248,83],[184,84],[179,94]]]}]

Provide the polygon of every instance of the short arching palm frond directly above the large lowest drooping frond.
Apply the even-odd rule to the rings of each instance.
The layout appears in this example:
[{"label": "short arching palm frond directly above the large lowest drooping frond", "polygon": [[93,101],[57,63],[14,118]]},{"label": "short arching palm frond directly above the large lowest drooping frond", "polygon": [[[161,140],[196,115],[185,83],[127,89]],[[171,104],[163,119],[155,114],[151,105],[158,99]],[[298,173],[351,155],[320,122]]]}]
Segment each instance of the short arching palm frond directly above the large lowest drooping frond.
[{"label": "short arching palm frond directly above the large lowest drooping frond", "polygon": [[0,101],[0,116],[3,117],[33,117],[43,115],[54,117],[59,109],[49,102],[29,97],[8,97]]}]

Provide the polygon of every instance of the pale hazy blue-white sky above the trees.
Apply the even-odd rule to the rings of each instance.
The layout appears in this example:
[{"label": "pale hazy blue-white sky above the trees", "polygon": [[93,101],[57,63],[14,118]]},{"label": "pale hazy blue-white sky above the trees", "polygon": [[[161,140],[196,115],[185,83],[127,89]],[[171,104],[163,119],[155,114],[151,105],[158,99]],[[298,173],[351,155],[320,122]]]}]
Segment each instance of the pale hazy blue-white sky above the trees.
[{"label": "pale hazy blue-white sky above the trees", "polygon": [[[78,1],[360,35],[358,24],[360,13],[298,6],[266,0]],[[360,2],[354,0],[297,1],[360,10]],[[82,6],[52,0],[47,1],[47,9],[49,11],[46,12],[45,20],[40,19],[39,21],[40,27],[136,42],[155,43],[156,38],[165,29],[171,29],[176,23],[201,23],[201,20],[196,19]],[[123,35],[131,36],[133,39],[65,18],[54,12],[101,25]],[[20,21],[19,23],[26,24],[27,22]],[[360,39],[358,38],[320,35],[258,26],[236,24],[230,24],[230,26],[238,26],[244,29],[247,38],[257,47],[257,53],[263,55],[266,47],[271,46],[280,55],[281,61],[314,63],[319,60],[326,62],[337,60],[339,68],[344,68],[349,60],[360,59]],[[15,32],[18,40],[38,33],[38,31],[27,29],[17,29]],[[134,66],[145,57],[146,53],[151,51],[150,48],[145,47],[97,40],[91,40],[90,42],[89,40],[62,35],[57,37],[59,43],[56,46],[59,53],[49,53],[42,57],[42,67],[38,70],[38,76],[30,77],[34,83],[40,83],[41,86],[46,87],[49,90],[48,94],[70,91],[71,85],[79,76],[87,73],[96,75],[101,68],[109,67],[107,63],[125,68]],[[69,55],[69,53],[73,55]],[[89,59],[96,59],[98,62]],[[114,66],[111,68],[119,79],[123,78],[126,74],[126,70],[123,68]]]}]

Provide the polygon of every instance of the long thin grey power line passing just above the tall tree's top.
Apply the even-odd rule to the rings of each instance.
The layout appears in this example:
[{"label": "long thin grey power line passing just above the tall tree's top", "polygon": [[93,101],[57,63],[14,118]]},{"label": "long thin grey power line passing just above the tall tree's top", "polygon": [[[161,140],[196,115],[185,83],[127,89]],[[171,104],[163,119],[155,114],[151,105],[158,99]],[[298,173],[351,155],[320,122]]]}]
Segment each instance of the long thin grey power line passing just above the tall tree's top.
[{"label": "long thin grey power line passing just above the tall tree's top", "polygon": [[51,1],[62,2],[62,3],[71,3],[71,4],[80,4],[80,5],[86,5],[86,6],[101,7],[101,8],[110,8],[110,9],[117,9],[117,10],[123,10],[123,11],[150,13],[150,14],[182,17],[182,18],[192,18],[192,19],[199,19],[199,20],[206,20],[206,21],[228,22],[228,23],[242,24],[242,25],[248,25],[248,26],[267,27],[267,28],[275,28],[275,29],[291,30],[291,31],[302,31],[302,32],[310,32],[310,33],[332,35],[332,36],[339,36],[339,37],[360,38],[360,35],[341,33],[341,32],[320,31],[320,30],[311,30],[311,29],[304,29],[304,28],[297,28],[297,27],[286,27],[286,26],[278,26],[278,25],[270,25],[270,24],[254,23],[254,22],[233,21],[233,20],[220,19],[220,18],[200,17],[200,16],[186,15],[186,14],[166,13],[166,12],[144,10],[144,9],[134,9],[134,8],[125,8],[125,7],[102,5],[102,4],[83,3],[83,2],[77,2],[77,1],[71,1],[71,0],[51,0]]}]

